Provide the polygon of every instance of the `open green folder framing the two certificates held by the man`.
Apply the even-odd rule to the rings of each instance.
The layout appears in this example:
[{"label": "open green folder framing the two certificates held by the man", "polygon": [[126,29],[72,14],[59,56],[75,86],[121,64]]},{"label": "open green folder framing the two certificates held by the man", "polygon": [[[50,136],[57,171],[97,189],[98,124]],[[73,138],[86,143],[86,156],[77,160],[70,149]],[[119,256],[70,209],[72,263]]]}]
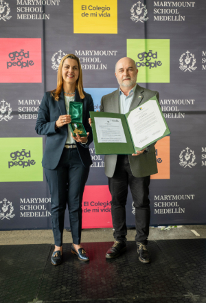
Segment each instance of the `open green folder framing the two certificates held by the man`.
[{"label": "open green folder framing the two certificates held by the man", "polygon": [[[165,132],[163,133],[163,135],[161,135],[161,137],[157,137],[154,141],[150,142],[149,144],[147,144],[145,146],[141,146],[141,147],[135,146],[134,141],[133,141],[133,136],[131,134],[130,127],[128,125],[128,120],[127,120],[128,115],[130,115],[130,113],[132,111],[134,111],[138,108],[141,109],[142,106],[149,100],[147,100],[140,106],[137,106],[136,109],[129,111],[125,115],[122,113],[104,113],[104,112],[91,111],[90,117],[92,120],[91,127],[92,127],[92,132],[93,132],[93,142],[94,142],[94,146],[95,146],[95,154],[96,155],[131,155],[133,153],[136,153],[136,150],[142,150],[142,149],[146,148],[147,146],[149,146],[150,144],[157,142],[159,139],[161,139],[167,135],[170,135],[170,129],[168,128],[168,124],[165,121],[165,117],[163,116],[163,113],[161,111],[161,107],[159,106],[159,102],[158,102],[157,98],[154,96],[154,97],[150,98],[150,100],[154,100],[155,102],[157,102],[158,109],[159,109],[159,111],[161,113],[161,117],[162,117],[162,123],[165,125]],[[94,119],[95,117],[108,117],[108,118],[114,118],[114,119],[121,119],[122,126],[124,129],[124,135],[126,137],[126,143],[98,142],[98,136],[97,136],[97,131],[96,131],[96,127],[95,127],[95,119]]]}]

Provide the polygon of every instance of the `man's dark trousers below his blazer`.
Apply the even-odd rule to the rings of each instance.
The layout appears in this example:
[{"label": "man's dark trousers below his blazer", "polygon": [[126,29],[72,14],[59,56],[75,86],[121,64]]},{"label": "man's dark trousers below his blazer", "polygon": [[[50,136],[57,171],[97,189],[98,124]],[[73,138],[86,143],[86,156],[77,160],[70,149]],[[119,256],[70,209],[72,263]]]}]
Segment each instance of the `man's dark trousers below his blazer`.
[{"label": "man's dark trousers below his blazer", "polygon": [[112,195],[111,214],[115,229],[113,234],[115,240],[126,243],[125,205],[129,186],[135,207],[135,227],[137,232],[135,241],[147,245],[150,225],[149,185],[150,176],[141,178],[133,176],[128,155],[117,156],[115,173],[112,178],[108,178],[108,187]]}]

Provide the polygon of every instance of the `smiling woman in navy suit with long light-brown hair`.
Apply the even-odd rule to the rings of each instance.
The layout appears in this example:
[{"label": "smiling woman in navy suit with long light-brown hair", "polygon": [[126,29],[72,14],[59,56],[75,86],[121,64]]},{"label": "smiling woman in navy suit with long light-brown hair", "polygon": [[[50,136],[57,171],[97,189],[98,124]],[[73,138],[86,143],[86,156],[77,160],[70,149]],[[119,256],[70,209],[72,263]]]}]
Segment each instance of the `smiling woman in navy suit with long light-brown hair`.
[{"label": "smiling woman in navy suit with long light-brown hair", "polygon": [[[87,137],[73,137],[69,130],[70,102],[82,102],[82,122]],[[51,193],[52,229],[55,249],[52,264],[62,261],[62,234],[65,209],[68,203],[69,220],[73,244],[71,252],[80,260],[89,257],[80,244],[82,229],[82,195],[92,161],[89,144],[93,141],[89,125],[89,111],[93,111],[93,100],[82,85],[80,60],[73,54],[62,58],[58,67],[57,87],[43,96],[36,121],[36,133],[47,135],[42,165]],[[67,186],[69,184],[69,187]]]}]

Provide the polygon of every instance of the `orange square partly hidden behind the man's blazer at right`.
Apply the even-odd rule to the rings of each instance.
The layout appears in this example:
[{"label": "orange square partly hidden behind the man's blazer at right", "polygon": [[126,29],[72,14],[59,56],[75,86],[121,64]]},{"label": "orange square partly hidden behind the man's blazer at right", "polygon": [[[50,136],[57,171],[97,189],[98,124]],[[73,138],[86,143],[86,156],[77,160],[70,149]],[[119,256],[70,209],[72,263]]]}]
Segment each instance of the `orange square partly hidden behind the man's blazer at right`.
[{"label": "orange square partly hidden behind the man's blazer at right", "polygon": [[170,137],[164,137],[155,144],[158,173],[151,179],[170,179]]}]

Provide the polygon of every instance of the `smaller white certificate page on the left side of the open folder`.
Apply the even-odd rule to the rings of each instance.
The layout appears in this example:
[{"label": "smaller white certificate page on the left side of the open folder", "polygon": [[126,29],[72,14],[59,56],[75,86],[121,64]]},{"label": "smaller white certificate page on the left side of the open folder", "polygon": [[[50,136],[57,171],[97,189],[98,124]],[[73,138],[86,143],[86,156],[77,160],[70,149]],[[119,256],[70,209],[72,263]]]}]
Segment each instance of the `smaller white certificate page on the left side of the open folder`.
[{"label": "smaller white certificate page on the left side of the open folder", "polygon": [[124,134],[121,119],[113,119],[110,117],[95,117],[94,120],[98,143],[126,143],[126,137]]}]

